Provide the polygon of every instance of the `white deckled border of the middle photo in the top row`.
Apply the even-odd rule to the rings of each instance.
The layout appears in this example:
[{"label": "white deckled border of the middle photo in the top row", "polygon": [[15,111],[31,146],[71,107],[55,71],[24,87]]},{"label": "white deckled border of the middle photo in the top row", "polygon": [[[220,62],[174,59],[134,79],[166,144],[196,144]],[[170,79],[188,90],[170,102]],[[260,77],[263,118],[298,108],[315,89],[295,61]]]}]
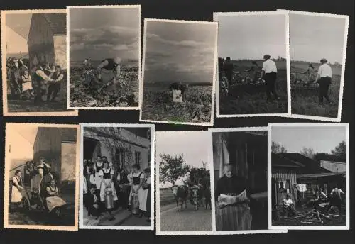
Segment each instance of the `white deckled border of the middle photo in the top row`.
[{"label": "white deckled border of the middle photo in the top row", "polygon": [[[200,23],[204,25],[215,25],[216,26],[216,36],[214,39],[214,71],[212,77],[212,102],[211,102],[211,118],[209,123],[194,123],[194,122],[177,122],[177,121],[154,121],[148,119],[142,119],[142,109],[143,109],[143,91],[144,91],[144,67],[146,63],[146,34],[148,22],[165,22],[165,23]],[[149,123],[168,123],[177,125],[191,125],[191,126],[213,126],[214,124],[214,97],[215,97],[215,82],[216,79],[216,67],[217,67],[217,39],[218,39],[218,23],[212,21],[182,21],[182,20],[172,20],[172,19],[159,19],[159,18],[144,18],[144,30],[143,30],[143,62],[142,62],[142,79],[141,79],[141,89],[139,94],[139,104],[141,104],[141,109],[139,110],[139,121],[149,122]]]}]

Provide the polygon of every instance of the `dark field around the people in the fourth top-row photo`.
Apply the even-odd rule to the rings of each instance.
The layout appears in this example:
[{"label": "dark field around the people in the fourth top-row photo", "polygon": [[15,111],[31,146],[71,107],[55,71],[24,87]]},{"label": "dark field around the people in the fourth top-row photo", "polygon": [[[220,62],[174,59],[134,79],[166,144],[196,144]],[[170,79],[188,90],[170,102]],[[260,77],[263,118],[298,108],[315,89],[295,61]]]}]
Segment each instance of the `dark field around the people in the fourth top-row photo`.
[{"label": "dark field around the people in the fourth top-row photo", "polygon": [[[256,61],[261,67],[263,60]],[[234,62],[234,72],[244,72],[251,66],[251,61],[238,60]],[[276,61],[278,67],[278,78],[276,91],[279,101],[267,102],[265,87],[256,87],[253,92],[239,91],[238,96],[219,97],[220,114],[258,114],[258,113],[287,113],[287,71],[286,61]]]}]

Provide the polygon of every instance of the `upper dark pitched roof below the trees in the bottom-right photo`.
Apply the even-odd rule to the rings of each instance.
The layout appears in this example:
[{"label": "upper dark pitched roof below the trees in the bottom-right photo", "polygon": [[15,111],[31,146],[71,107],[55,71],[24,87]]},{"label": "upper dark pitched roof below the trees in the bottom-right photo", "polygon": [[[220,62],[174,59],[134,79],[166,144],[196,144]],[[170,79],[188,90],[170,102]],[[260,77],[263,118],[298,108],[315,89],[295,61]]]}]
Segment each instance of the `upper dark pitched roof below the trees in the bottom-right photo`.
[{"label": "upper dark pitched roof below the trees in the bottom-right photo", "polygon": [[286,157],[289,160],[292,160],[293,162],[297,162],[302,165],[305,165],[304,169],[302,170],[302,173],[304,174],[317,174],[317,173],[331,172],[329,170],[324,169],[323,167],[320,167],[319,162],[312,160],[310,157],[306,157],[305,155],[302,155],[300,153],[280,153],[278,155]]}]

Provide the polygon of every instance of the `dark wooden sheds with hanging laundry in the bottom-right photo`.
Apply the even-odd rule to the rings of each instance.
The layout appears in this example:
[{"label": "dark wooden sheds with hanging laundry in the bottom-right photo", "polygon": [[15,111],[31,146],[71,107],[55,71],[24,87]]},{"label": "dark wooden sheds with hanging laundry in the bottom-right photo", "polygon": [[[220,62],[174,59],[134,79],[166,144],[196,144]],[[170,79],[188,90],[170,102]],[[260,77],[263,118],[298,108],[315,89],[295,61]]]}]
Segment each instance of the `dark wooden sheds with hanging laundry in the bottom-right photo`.
[{"label": "dark wooden sheds with hanging laundry in the bottom-right photo", "polygon": [[[304,204],[320,188],[327,194],[336,186],[345,186],[344,172],[327,170],[320,162],[300,153],[273,153],[271,165],[273,207],[278,207],[287,193],[295,204]],[[280,189],[281,185],[285,190]]]}]

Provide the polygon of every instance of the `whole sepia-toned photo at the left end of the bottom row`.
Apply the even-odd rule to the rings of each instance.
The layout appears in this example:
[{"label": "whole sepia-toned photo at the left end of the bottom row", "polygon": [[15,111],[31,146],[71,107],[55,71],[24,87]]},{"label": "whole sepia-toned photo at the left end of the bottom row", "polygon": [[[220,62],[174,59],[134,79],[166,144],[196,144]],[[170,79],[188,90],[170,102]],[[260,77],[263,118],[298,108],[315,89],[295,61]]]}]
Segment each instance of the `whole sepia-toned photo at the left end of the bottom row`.
[{"label": "whole sepia-toned photo at the left end of the bottom row", "polygon": [[77,231],[80,127],[6,123],[4,228]]}]

